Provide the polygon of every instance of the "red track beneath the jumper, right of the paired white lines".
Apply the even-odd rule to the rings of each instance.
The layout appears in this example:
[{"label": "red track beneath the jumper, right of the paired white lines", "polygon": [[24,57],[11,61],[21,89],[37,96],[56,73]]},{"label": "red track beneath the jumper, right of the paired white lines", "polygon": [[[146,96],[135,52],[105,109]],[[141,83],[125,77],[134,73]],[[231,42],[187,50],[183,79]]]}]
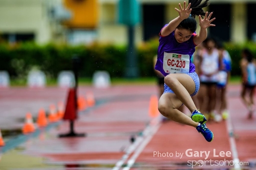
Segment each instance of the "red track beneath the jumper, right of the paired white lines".
[{"label": "red track beneath the jumper, right of the paired white lines", "polygon": [[256,122],[247,119],[240,88],[228,88],[229,118],[207,123],[214,133],[213,142],[206,142],[193,127],[162,123],[129,156],[123,170],[255,169]]}]

